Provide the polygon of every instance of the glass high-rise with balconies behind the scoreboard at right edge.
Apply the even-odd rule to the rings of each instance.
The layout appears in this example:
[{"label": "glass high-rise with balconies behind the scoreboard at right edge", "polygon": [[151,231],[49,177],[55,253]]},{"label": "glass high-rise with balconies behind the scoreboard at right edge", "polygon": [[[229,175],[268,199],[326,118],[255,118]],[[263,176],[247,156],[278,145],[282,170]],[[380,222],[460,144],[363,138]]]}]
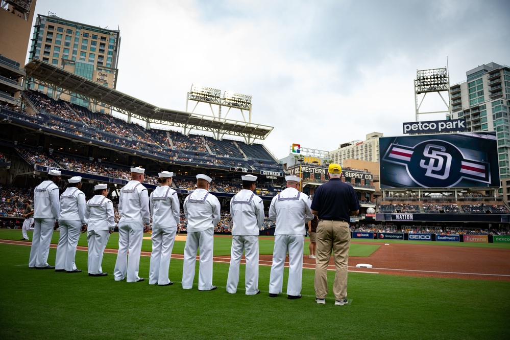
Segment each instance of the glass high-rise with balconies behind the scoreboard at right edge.
[{"label": "glass high-rise with balconies behind the scoreboard at right edge", "polygon": [[496,131],[499,197],[510,201],[510,67],[494,62],[466,72],[467,80],[450,86],[449,119],[466,118],[468,131]]}]

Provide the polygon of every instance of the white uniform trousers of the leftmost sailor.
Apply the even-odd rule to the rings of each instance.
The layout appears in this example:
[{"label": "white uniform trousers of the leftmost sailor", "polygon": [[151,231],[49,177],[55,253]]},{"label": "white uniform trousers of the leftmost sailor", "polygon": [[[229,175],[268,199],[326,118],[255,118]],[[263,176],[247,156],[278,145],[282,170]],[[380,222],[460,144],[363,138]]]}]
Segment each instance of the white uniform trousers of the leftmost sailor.
[{"label": "white uniform trousers of the leftmost sailor", "polygon": [[54,218],[36,218],[32,247],[30,248],[29,267],[45,267],[48,265],[48,254],[52,242]]}]

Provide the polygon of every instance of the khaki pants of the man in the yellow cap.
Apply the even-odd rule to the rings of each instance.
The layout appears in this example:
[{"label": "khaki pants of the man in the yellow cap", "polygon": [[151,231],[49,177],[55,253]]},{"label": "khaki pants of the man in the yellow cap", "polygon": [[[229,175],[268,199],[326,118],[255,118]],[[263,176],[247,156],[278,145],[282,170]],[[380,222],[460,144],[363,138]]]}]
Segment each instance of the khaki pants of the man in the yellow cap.
[{"label": "khaki pants of the man in the yellow cap", "polygon": [[328,295],[327,269],[331,251],[336,266],[333,294],[336,300],[347,298],[347,261],[351,232],[345,221],[319,220],[317,226],[317,252],[315,259],[315,296],[324,299]]}]

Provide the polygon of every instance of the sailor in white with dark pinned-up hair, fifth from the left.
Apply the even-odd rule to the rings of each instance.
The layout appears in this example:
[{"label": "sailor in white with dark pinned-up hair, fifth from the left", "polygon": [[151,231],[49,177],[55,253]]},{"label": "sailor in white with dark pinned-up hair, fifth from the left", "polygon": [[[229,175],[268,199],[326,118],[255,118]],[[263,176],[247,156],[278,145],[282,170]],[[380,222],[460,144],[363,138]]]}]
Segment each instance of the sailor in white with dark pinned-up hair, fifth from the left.
[{"label": "sailor in white with dark pinned-up hair, fifth from the left", "polygon": [[151,192],[149,201],[152,214],[152,253],[149,284],[169,286],[168,267],[174,247],[177,225],[180,223],[179,198],[171,188],[173,172],[159,173],[159,187]]}]

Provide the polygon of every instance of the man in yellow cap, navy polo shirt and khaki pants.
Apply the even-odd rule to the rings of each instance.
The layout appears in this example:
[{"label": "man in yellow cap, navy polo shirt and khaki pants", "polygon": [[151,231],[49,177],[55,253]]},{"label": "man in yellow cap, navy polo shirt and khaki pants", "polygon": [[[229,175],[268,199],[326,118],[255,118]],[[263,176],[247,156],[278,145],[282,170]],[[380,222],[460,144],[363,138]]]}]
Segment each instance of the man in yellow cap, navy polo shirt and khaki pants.
[{"label": "man in yellow cap, navy polo shirt and khaki pants", "polygon": [[328,294],[327,269],[331,251],[336,266],[333,294],[335,305],[347,304],[347,260],[351,244],[350,216],[359,212],[354,188],[342,182],[342,167],[330,164],[329,181],[313,195],[311,211],[319,218],[317,226],[317,258],[315,259],[315,301],[326,303]]}]

